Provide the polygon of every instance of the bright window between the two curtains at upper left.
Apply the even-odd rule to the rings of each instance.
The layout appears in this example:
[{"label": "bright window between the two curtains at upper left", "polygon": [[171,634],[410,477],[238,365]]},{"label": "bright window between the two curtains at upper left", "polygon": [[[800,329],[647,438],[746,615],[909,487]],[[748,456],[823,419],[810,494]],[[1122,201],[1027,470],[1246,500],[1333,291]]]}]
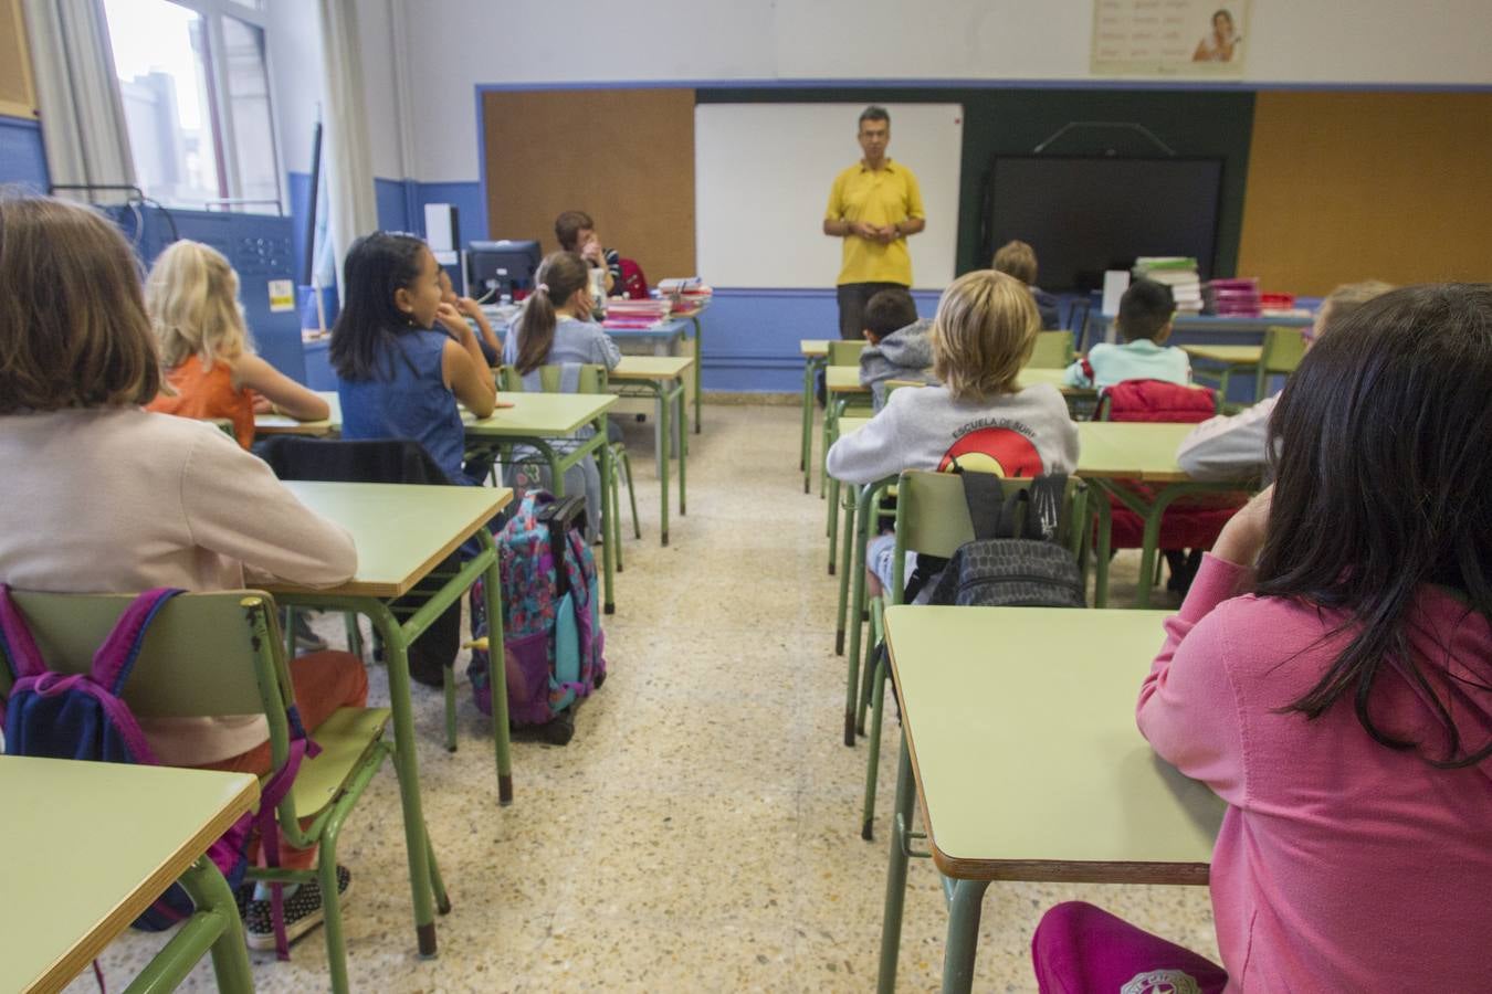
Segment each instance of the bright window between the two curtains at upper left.
[{"label": "bright window between the two curtains at upper left", "polygon": [[136,182],[172,207],[276,210],[279,165],[252,0],[104,0]]}]

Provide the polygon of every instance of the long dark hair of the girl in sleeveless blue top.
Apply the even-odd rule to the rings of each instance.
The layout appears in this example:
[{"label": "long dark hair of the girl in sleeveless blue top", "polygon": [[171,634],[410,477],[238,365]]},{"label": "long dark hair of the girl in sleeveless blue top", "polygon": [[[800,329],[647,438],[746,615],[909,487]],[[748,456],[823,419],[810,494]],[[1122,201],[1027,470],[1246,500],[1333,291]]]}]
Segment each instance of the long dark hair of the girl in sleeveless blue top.
[{"label": "long dark hair of the girl in sleeveless blue top", "polygon": [[348,249],[342,267],[342,313],[331,326],[327,350],[331,368],[343,380],[392,374],[389,364],[398,350],[398,335],[413,326],[409,314],[394,304],[394,294],[419,277],[422,252],[427,252],[424,241],[392,231],[363,235]]}]

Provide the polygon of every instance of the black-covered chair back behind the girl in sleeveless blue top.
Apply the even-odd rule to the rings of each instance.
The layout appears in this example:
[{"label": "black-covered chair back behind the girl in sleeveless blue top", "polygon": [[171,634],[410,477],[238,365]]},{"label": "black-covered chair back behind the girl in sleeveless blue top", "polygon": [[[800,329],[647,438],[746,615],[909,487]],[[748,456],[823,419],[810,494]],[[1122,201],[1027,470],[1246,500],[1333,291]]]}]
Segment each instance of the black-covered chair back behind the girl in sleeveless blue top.
[{"label": "black-covered chair back behind the girl in sleeveless blue top", "polygon": [[275,435],[255,446],[280,480],[445,484],[446,471],[413,438],[301,438]]}]

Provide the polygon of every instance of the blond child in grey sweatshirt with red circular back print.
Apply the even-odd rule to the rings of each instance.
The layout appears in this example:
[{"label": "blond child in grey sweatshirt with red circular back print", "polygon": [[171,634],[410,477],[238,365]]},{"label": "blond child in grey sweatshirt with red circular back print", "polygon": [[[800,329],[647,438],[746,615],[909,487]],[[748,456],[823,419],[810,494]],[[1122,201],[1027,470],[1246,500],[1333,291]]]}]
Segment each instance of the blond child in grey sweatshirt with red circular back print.
[{"label": "blond child in grey sweatshirt with red circular back print", "polygon": [[[1077,426],[1055,386],[1016,390],[1041,328],[1019,280],[976,270],[938,301],[932,371],[943,386],[897,390],[886,407],[828,452],[830,475],[874,483],[903,469],[964,469],[1037,477],[1077,468]],[[891,583],[895,536],[882,535],[865,562]],[[907,575],[913,563],[909,554]]]}]

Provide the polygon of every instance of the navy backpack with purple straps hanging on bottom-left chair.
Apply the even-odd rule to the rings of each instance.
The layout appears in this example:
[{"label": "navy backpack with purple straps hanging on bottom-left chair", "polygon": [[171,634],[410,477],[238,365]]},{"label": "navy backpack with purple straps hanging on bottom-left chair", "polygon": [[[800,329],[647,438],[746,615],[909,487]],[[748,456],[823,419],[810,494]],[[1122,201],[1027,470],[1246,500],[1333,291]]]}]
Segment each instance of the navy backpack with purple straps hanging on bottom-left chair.
[{"label": "navy backpack with purple straps hanging on bottom-left chair", "polygon": [[[10,687],[0,730],[7,756],[85,760],[97,763],[136,763],[160,766],[130,705],[119,697],[134,662],[145,645],[145,635],[167,601],[185,590],[157,587],[139,595],[119,615],[113,630],[94,653],[87,674],[58,674],[46,666],[25,617],[10,598],[10,587],[0,584],[0,650],[10,660],[16,677]],[[275,806],[289,791],[300,760],[319,751],[289,708],[291,756],[285,767],[263,785],[258,814],[248,812],[207,849],[230,890],[243,882],[248,867],[245,849],[258,823],[267,861],[279,858],[279,827]],[[286,958],[283,912],[276,887],[275,931],[280,958]],[[181,884],[172,884],[139,918],[134,927],[163,931],[189,918],[195,908]]]}]

